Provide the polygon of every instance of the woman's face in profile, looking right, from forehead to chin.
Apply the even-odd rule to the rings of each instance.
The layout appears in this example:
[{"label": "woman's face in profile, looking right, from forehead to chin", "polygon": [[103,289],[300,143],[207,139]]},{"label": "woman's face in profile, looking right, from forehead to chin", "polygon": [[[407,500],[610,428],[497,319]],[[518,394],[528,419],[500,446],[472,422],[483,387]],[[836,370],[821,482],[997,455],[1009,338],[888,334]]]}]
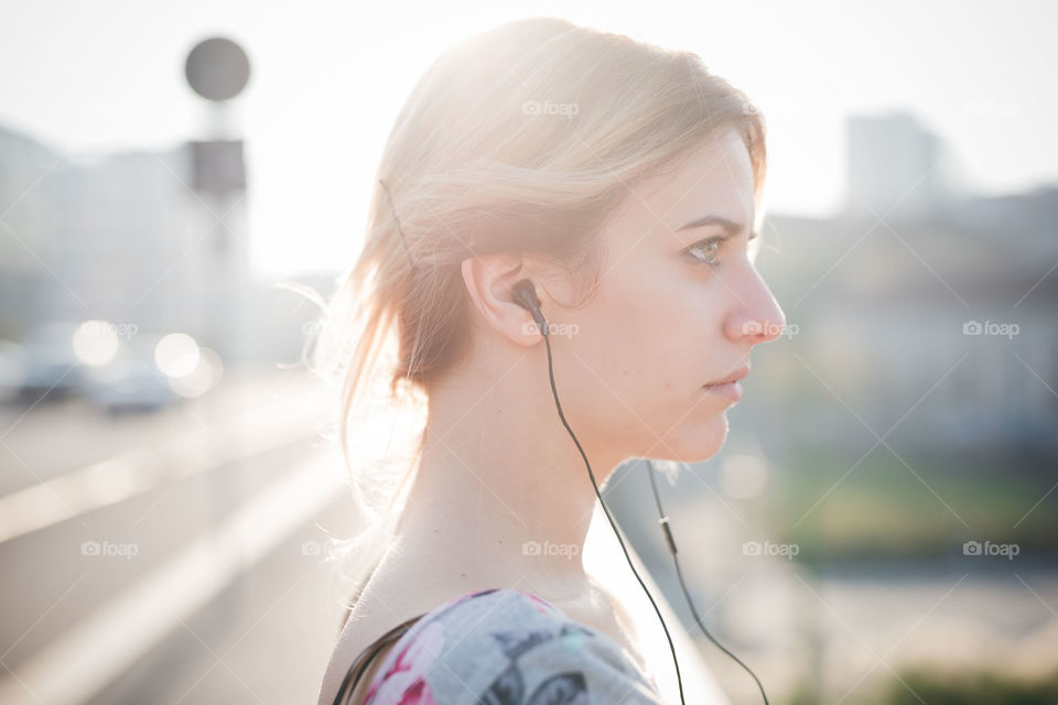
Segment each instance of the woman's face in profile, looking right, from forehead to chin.
[{"label": "woman's face in profile, looking right, from forehead to chin", "polygon": [[[754,265],[753,192],[745,143],[722,132],[678,171],[635,184],[611,214],[592,301],[546,311],[563,406],[616,462],[715,454],[735,398],[708,384],[744,372],[753,346],[782,330]],[[737,227],[702,223],[716,218]]]}]

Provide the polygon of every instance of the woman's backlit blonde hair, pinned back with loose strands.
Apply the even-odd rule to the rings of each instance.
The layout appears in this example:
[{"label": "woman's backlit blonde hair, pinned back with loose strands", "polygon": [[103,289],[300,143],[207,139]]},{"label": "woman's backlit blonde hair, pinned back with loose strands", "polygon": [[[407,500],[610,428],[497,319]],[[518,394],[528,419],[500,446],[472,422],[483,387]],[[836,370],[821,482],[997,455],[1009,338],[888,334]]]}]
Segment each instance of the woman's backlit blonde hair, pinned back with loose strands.
[{"label": "woman's backlit blonde hair, pinned back with loose strands", "polygon": [[[337,434],[363,506],[380,507],[388,495],[390,516],[412,470],[366,499],[375,478],[350,462],[353,410],[385,379],[384,394],[418,394],[421,411],[432,384],[467,359],[472,310],[461,262],[498,252],[542,258],[569,272],[579,292],[572,305],[583,305],[603,264],[600,226],[629,186],[674,171],[732,127],[748,149],[759,200],[764,120],[691,52],[535,18],[434,61],[389,134],[364,248],[314,349],[317,370],[341,380]],[[396,348],[389,358],[387,345]],[[378,553],[380,542],[360,538],[346,545]]]}]

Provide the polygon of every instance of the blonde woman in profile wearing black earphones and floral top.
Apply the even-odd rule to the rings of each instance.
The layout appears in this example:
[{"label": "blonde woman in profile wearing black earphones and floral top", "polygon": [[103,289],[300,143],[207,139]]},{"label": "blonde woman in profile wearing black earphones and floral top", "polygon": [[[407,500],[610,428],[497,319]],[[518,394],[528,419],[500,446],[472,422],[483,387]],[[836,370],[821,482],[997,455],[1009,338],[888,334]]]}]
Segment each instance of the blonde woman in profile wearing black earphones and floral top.
[{"label": "blonde woman in profile wearing black earphones and floral top", "polygon": [[515,285],[539,300],[557,393],[601,486],[626,458],[709,458],[751,349],[785,324],[754,267],[764,175],[760,116],[694,54],[541,18],[430,67],[319,348],[342,365],[347,460],[354,399],[390,333],[390,391],[425,406],[384,517],[396,527],[358,544],[371,570],[321,704],[366,647],[421,615],[376,642],[343,702],[661,702],[652,673],[671,672],[668,654],[643,653],[584,571],[596,495]]}]

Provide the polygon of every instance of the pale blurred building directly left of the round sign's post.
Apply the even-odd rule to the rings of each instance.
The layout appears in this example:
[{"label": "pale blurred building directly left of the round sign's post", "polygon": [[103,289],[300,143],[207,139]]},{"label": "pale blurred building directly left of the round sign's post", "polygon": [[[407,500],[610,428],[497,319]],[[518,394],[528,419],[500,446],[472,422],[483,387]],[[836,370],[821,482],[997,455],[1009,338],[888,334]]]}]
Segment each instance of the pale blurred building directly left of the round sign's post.
[{"label": "pale blurred building directly left of the round sign's post", "polygon": [[41,316],[202,333],[207,215],[184,185],[182,151],[114,154],[52,175],[57,227],[43,259],[64,285]]}]

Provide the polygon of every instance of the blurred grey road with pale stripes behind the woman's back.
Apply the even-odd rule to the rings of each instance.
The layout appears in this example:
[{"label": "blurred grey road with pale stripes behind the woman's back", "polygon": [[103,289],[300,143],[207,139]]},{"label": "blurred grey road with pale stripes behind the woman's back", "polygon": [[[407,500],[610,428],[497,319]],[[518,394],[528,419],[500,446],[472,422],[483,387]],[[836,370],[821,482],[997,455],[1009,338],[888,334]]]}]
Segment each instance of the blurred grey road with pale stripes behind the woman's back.
[{"label": "blurred grey road with pale stripes behind the woman's back", "polygon": [[0,702],[313,701],[341,612],[321,527],[355,520],[330,410],[288,372],[152,414],[3,408]]}]

